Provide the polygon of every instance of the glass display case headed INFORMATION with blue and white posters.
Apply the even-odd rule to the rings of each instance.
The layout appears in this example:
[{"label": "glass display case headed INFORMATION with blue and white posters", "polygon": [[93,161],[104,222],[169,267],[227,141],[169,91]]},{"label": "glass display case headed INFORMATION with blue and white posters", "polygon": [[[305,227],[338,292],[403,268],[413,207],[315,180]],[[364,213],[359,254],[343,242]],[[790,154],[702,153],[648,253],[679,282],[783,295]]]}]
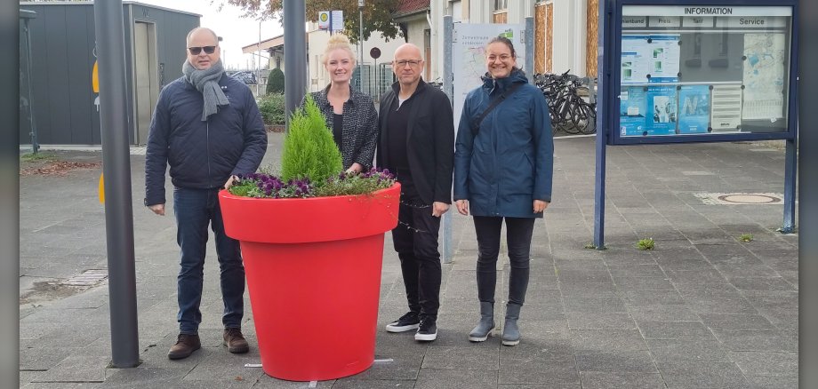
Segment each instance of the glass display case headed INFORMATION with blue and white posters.
[{"label": "glass display case headed INFORMATION with blue and white posters", "polygon": [[792,6],[624,2],[621,10],[620,115],[609,142],[793,136]]}]

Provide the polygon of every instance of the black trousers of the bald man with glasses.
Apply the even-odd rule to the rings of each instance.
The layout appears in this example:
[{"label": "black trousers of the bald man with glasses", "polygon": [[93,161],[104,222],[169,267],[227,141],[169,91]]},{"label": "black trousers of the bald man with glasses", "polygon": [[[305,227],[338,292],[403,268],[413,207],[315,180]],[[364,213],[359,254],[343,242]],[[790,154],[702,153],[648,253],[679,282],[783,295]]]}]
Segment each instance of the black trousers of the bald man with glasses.
[{"label": "black trousers of the bald man with glasses", "polygon": [[432,216],[431,204],[421,202],[412,178],[398,171],[401,184],[398,224],[392,230],[392,242],[400,258],[409,310],[421,320],[437,321],[440,307],[440,252],[437,234],[440,218]]}]

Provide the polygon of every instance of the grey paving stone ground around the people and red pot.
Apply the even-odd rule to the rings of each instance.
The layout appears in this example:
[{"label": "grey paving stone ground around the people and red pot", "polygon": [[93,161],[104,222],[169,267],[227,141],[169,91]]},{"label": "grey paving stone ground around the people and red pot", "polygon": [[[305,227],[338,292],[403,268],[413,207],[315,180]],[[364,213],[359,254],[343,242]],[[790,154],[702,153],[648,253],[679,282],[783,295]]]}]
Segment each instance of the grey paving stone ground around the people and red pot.
[{"label": "grey paving stone ground around the people and red pot", "polygon": [[[281,135],[270,134],[264,165],[277,161],[280,144]],[[594,139],[557,139],[555,149],[553,202],[535,224],[520,345],[502,346],[500,329],[485,343],[467,339],[478,318],[477,242],[471,220],[455,214],[456,250],[453,262],[443,266],[437,340],[421,344],[410,333],[383,330],[406,310],[397,255],[386,234],[375,353],[393,361],[312,387],[798,387],[798,235],[775,232],[782,224],[780,203],[715,205],[697,196],[781,194],[780,147],[608,147],[607,250],[585,248],[594,223]],[[98,151],[52,153],[64,160],[101,159]],[[132,155],[131,163],[142,363],[109,367],[108,282],[53,285],[107,268],[99,169],[20,177],[20,386],[310,387],[245,368],[260,362],[249,296],[244,330],[250,353],[233,355],[221,346],[212,242],[203,348],[185,360],[167,359],[177,335],[172,205],[164,218],[142,206],[144,156]],[[752,242],[741,242],[741,234],[752,234]],[[648,237],[654,250],[637,250],[636,242]],[[503,256],[498,325],[508,289]]]}]

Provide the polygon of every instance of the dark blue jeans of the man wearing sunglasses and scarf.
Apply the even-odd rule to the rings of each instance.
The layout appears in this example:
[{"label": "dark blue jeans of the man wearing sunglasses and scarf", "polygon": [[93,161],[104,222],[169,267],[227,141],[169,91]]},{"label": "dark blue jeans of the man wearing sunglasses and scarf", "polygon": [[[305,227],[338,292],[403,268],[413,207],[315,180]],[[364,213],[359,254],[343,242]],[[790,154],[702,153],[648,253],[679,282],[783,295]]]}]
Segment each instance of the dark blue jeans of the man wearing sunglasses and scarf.
[{"label": "dark blue jeans of the man wearing sunglasses and scarf", "polygon": [[225,328],[241,328],[245,314],[245,266],[238,241],[224,234],[218,189],[173,190],[173,211],[176,215],[176,242],[181,250],[177,279],[179,298],[179,331],[196,334],[202,313],[202,282],[205,274],[207,226],[216,238],[216,256],[221,268],[221,299]]}]

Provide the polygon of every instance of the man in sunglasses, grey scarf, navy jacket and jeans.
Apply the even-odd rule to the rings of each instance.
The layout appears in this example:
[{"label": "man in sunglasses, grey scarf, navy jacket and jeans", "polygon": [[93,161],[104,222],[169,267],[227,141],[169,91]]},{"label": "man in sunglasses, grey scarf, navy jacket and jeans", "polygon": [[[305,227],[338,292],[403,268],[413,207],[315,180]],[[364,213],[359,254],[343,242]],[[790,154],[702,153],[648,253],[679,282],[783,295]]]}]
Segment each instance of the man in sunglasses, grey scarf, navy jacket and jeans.
[{"label": "man in sunglasses, grey scarf, navy jacket and jeans", "polygon": [[187,37],[182,75],[159,94],[148,132],[145,205],[164,215],[164,172],[170,165],[176,241],[181,250],[177,277],[179,337],[168,358],[187,358],[201,347],[202,284],[207,228],[213,229],[219,260],[224,345],[246,353],[241,333],[245,267],[239,244],[224,233],[218,192],[237,175],[256,171],[267,150],[267,132],[253,93],[224,74],[219,37],[194,28]]}]

